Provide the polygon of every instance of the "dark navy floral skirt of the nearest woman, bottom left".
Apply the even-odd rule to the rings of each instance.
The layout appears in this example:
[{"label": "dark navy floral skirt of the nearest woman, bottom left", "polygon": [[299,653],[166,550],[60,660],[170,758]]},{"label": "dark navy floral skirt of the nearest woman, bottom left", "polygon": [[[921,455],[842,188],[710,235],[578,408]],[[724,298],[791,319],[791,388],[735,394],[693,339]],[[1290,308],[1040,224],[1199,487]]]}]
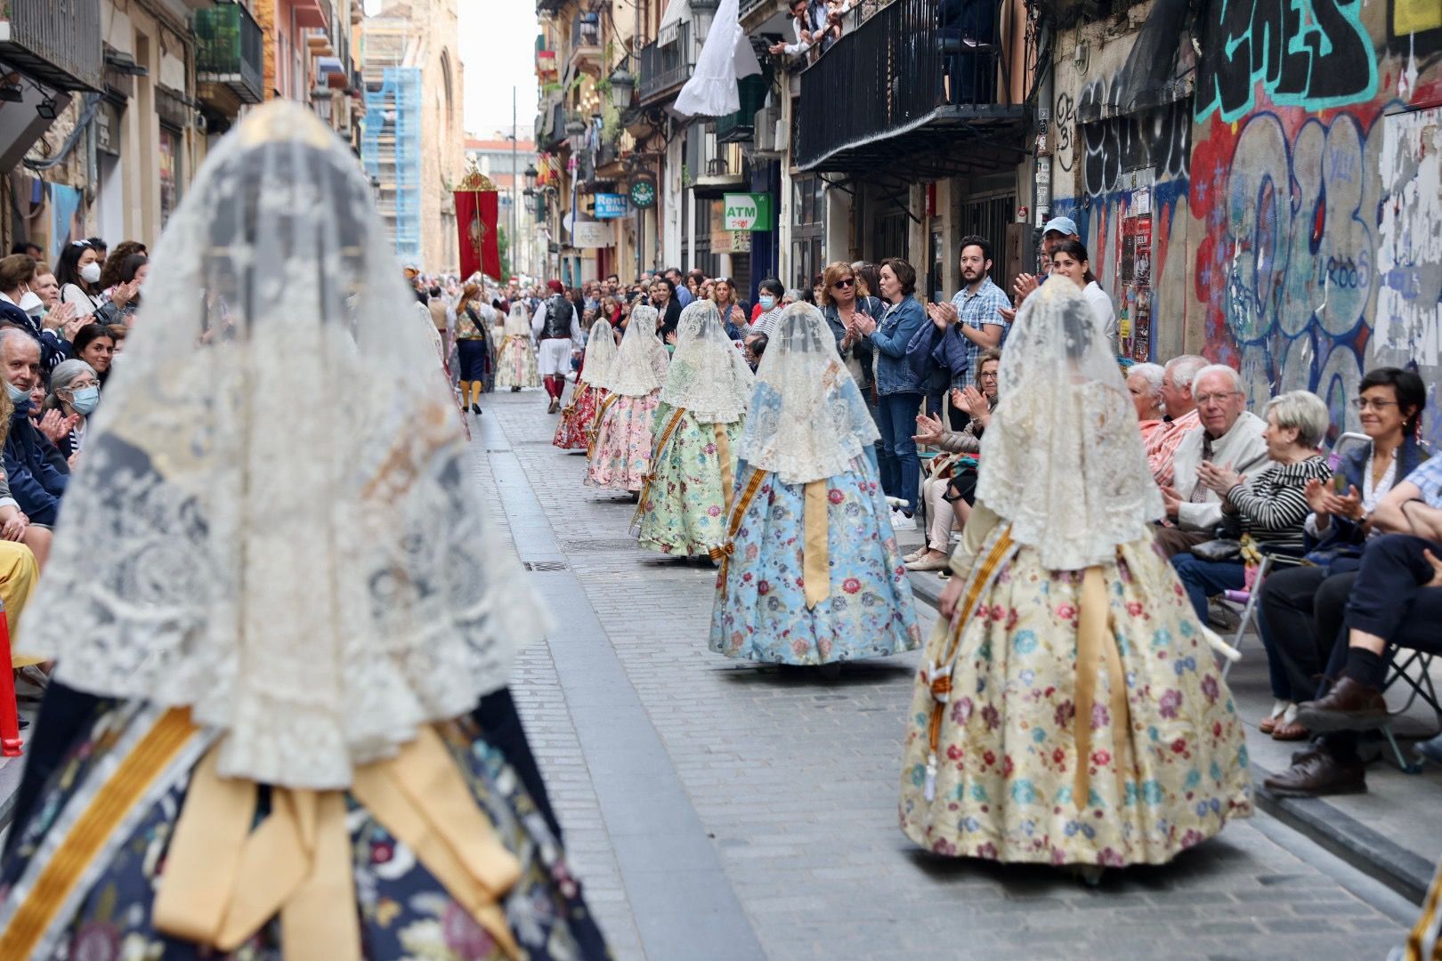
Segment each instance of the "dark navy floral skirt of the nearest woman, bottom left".
[{"label": "dark navy floral skirt of the nearest woman, bottom left", "polygon": [[[117,707],[101,715],[89,735],[58,768],[25,836],[4,864],[0,916],[14,921],[10,912],[17,905],[29,911],[58,903],[53,919],[39,926],[35,942],[22,948],[23,955],[27,961],[281,961],[287,955],[280,915],[262,922],[229,952],[203,948],[156,929],[156,896],[198,764],[187,762],[182,749],[182,758],[163,768],[138,794],[138,800],[127,807],[120,801],[124,788],[111,777],[115,765],[136,769],[150,764],[149,759],[141,761],[144,749],[136,749],[137,738],[127,733],[138,730],[127,720],[127,710]],[[486,743],[470,719],[435,725],[435,732],[482,815],[490,821],[495,837],[521,863],[519,880],[496,903],[525,957],[531,961],[607,958],[606,942],[578,883],[570,875],[564,852],[515,771],[499,751]],[[107,788],[97,791],[99,784]],[[273,798],[262,787],[257,821]],[[62,882],[74,883],[74,895],[62,898],[56,892],[65,888],[56,888],[53,877],[49,882],[45,877],[69,860],[66,852],[72,844],[91,837],[82,827],[85,817],[78,817],[76,808],[94,810],[101,804],[114,808],[104,821],[102,830],[108,834],[89,862],[79,862],[75,880]],[[352,903],[337,900],[335,906],[323,902],[311,912],[327,916],[329,912],[343,911],[340,922],[358,926],[360,957],[368,961],[502,961],[506,957],[492,934],[437,882],[404,841],[397,840],[349,792],[345,805],[343,830],[349,834],[349,844],[345,854],[348,864],[342,870],[350,869],[355,899]],[[59,847],[52,850],[50,844]],[[81,844],[79,850],[85,846]],[[42,883],[37,883],[37,876]],[[68,872],[62,869],[59,876],[65,877]],[[337,889],[327,892],[336,895]],[[261,903],[271,893],[275,892],[261,892]],[[4,932],[0,938],[17,935],[25,926],[19,922],[13,928],[0,924]]]}]

